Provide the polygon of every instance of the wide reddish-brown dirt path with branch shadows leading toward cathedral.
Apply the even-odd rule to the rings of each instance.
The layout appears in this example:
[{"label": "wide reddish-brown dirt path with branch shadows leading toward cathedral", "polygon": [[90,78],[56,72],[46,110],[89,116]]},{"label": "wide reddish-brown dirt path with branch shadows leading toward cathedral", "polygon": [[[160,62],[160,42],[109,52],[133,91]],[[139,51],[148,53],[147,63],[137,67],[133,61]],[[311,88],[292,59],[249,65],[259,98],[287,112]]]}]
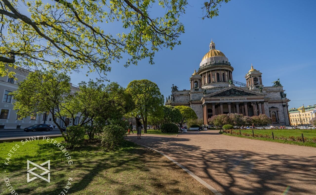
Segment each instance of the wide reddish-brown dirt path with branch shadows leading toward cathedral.
[{"label": "wide reddish-brown dirt path with branch shadows leading toward cathedral", "polygon": [[316,148],[218,131],[126,139],[165,153],[222,194],[316,194]]}]

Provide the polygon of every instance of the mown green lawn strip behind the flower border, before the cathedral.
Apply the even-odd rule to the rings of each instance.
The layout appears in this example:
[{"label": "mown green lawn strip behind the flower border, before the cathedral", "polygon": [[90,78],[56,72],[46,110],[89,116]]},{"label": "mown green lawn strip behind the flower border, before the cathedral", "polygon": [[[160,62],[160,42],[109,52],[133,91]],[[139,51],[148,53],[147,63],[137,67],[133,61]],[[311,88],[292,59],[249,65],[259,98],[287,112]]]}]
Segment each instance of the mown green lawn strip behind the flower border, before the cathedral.
[{"label": "mown green lawn strip behind the flower border, before the cathedral", "polygon": [[[239,130],[237,130],[239,131]],[[272,131],[274,136],[281,137],[289,137],[289,136],[294,136],[298,137],[301,136],[302,133],[304,137],[306,138],[313,138],[316,137],[316,130],[308,130],[308,129],[266,129],[266,130],[261,130],[261,129],[254,129],[253,132],[254,134],[269,134],[272,135]],[[252,130],[241,130],[241,133],[251,133]]]}]

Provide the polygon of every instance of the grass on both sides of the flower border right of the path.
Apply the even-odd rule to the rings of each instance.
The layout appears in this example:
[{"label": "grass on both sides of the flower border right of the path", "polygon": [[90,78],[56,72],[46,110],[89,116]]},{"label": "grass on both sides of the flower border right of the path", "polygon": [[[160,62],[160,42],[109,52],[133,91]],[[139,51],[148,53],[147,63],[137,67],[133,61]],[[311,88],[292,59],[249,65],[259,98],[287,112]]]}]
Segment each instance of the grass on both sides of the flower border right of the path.
[{"label": "grass on both sides of the flower border right of the path", "polygon": [[[239,133],[239,130],[234,130],[235,132]],[[316,137],[316,131],[315,130],[302,130],[302,129],[267,129],[267,130],[256,130],[254,129],[253,132],[254,134],[268,134],[272,136],[272,131],[274,136],[277,137],[289,137],[289,136],[294,136],[298,137],[301,136],[303,133],[304,138],[313,138]],[[282,139],[272,139],[272,138],[265,138],[265,137],[249,137],[249,136],[243,136],[243,135],[234,135],[230,133],[223,133],[220,132],[223,135],[229,135],[229,136],[235,136],[235,137],[244,137],[248,139],[257,139],[257,140],[263,140],[263,141],[269,141],[269,142],[278,142],[278,143],[287,143],[287,144],[294,144],[294,145],[301,145],[301,146],[309,146],[309,147],[315,147],[316,148],[316,143],[313,142],[297,142],[297,141],[289,141],[289,140],[282,140]],[[248,133],[252,135],[252,130],[241,130],[241,133]]]}]

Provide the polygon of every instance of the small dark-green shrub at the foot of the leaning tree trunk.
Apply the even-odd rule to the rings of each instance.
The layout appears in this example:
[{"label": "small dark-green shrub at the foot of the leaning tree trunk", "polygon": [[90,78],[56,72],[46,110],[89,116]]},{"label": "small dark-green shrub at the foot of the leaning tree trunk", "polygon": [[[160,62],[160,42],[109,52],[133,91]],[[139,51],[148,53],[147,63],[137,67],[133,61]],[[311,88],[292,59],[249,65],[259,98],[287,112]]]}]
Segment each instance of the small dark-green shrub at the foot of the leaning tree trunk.
[{"label": "small dark-green shrub at the foot of the leaning tree trunk", "polygon": [[67,127],[66,132],[64,132],[64,136],[67,139],[66,147],[72,149],[74,146],[81,144],[84,140],[85,133],[85,128],[78,125]]}]

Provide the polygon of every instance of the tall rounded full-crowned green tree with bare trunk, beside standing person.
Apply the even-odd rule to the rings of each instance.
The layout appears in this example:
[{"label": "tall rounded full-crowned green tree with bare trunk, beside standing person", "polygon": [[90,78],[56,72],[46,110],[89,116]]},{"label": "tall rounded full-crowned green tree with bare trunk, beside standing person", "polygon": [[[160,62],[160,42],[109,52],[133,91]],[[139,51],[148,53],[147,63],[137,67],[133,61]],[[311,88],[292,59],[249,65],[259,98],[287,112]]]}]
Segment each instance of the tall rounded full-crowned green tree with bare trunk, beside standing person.
[{"label": "tall rounded full-crowned green tree with bare trunk, beside standing person", "polygon": [[144,133],[147,133],[147,117],[156,112],[161,112],[164,98],[156,83],[147,79],[134,80],[127,85],[126,91],[131,94],[135,108],[128,116],[141,118],[144,125]]}]

